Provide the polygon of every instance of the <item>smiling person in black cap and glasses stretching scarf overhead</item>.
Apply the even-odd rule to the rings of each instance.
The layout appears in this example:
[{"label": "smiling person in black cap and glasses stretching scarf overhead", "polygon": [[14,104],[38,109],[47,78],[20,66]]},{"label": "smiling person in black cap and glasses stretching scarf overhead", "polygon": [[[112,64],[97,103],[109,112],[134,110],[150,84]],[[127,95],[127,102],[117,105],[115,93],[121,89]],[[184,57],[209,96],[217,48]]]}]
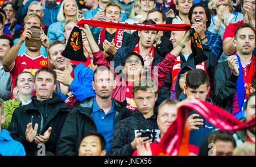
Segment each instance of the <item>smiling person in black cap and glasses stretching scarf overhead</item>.
[{"label": "smiling person in black cap and glasses stretching scarf overhead", "polygon": [[[85,25],[84,27],[85,34],[86,36],[88,36],[90,48],[93,52],[93,63],[97,64],[98,66],[110,66],[109,62],[106,61],[104,56],[102,55],[100,49],[98,48],[98,45],[93,40],[92,32],[90,32],[89,26]],[[187,34],[184,36],[183,40],[189,40],[189,35],[190,30],[187,31]],[[166,77],[166,74],[171,70],[173,62],[176,59],[176,56],[173,54],[175,54],[178,49],[179,47],[174,48],[172,52],[170,52],[164,58],[163,61],[159,62],[159,64],[155,66],[152,72],[149,69],[152,64],[152,56],[148,56],[148,59],[146,61],[143,61],[142,56],[139,55],[137,52],[128,52],[122,59],[122,67],[124,66],[125,70],[120,69],[119,67],[119,69],[115,69],[115,80],[117,81],[117,86],[113,91],[112,97],[119,102],[123,102],[126,100],[127,108],[129,108],[130,110],[134,110],[135,108],[137,108],[131,94],[134,81],[140,78],[144,72],[148,72],[147,75],[150,74],[152,78],[156,79],[157,77],[156,81],[158,81],[158,89],[160,89],[163,84],[164,78]],[[119,70],[122,70],[122,73],[120,75],[117,75],[117,72]]]}]

